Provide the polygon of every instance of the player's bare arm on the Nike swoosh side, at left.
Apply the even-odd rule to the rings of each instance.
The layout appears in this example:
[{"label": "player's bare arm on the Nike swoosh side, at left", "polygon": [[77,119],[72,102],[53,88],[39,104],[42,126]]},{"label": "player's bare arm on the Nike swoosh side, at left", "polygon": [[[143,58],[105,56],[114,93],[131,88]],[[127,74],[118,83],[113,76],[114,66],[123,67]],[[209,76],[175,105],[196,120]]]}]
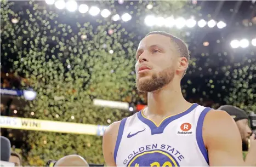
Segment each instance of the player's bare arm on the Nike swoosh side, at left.
[{"label": "player's bare arm on the Nike swoosh side, at left", "polygon": [[107,166],[116,166],[114,150],[121,121],[112,123],[103,135],[103,156]]}]

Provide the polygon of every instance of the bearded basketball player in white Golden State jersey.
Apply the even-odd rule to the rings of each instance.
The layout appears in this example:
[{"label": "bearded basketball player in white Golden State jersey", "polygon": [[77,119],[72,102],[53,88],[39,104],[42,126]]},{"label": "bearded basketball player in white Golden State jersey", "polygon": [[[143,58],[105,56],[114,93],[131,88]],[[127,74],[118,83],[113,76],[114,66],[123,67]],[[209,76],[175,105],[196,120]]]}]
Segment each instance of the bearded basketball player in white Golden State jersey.
[{"label": "bearded basketball player in white Golden State jersey", "polygon": [[136,52],[136,87],[147,108],[112,123],[103,136],[108,166],[244,166],[234,120],[187,102],[180,87],[189,65],[181,39],[151,32]]}]

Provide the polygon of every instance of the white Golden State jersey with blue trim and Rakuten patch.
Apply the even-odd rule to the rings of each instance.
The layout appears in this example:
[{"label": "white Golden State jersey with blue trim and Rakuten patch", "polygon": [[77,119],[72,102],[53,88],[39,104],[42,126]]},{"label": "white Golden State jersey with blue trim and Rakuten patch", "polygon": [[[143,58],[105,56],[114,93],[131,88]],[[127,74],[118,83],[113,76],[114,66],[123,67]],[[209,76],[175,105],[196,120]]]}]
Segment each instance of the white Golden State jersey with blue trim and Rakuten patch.
[{"label": "white Golden State jersey with blue trim and Rakuten patch", "polygon": [[117,166],[209,166],[202,137],[212,108],[193,103],[156,125],[143,111],[121,121],[114,158]]}]

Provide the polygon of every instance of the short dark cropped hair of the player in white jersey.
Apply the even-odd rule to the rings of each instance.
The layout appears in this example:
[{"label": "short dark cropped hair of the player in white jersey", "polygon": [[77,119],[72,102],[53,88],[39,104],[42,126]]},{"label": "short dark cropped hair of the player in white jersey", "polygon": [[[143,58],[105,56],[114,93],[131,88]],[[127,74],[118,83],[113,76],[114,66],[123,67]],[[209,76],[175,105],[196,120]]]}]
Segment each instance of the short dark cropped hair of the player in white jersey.
[{"label": "short dark cropped hair of the player in white jersey", "polygon": [[[174,43],[174,47],[177,49],[178,53],[180,54],[180,57],[186,57],[187,62],[189,62],[190,55],[189,55],[189,49],[187,48],[187,45],[184,41],[182,41],[180,38],[173,36],[170,33],[164,32],[164,31],[152,31],[148,33],[146,36],[149,36],[151,34],[161,34],[163,36],[169,37],[170,41]],[[186,70],[184,71],[184,74],[182,77],[185,76]]]}]

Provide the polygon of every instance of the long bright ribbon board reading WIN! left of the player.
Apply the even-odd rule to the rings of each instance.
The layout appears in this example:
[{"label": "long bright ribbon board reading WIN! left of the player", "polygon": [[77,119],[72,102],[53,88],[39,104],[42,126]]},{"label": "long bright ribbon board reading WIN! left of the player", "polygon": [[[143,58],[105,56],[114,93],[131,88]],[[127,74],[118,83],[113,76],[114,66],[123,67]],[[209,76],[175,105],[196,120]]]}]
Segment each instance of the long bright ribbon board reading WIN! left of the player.
[{"label": "long bright ribbon board reading WIN! left of the player", "polygon": [[1,128],[103,136],[107,126],[0,116]]}]

